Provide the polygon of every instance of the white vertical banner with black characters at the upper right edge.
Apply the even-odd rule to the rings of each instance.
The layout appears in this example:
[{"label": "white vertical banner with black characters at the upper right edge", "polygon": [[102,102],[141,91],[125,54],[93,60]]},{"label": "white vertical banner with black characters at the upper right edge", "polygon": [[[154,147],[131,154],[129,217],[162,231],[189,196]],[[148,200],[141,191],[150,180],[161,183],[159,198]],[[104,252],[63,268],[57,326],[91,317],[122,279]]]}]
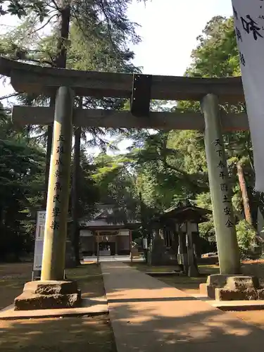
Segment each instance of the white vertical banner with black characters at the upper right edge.
[{"label": "white vertical banner with black characters at the upper right edge", "polygon": [[232,0],[256,190],[264,191],[264,1]]}]

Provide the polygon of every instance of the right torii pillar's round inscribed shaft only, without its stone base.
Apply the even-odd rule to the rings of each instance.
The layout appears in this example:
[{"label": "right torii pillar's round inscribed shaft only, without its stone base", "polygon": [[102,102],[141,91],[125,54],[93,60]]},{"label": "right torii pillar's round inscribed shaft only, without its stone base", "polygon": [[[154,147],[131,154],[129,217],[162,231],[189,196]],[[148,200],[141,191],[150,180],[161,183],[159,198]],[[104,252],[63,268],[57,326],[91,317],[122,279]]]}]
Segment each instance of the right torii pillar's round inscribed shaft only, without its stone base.
[{"label": "right torii pillar's round inscribed shaft only, without its stone base", "polygon": [[239,247],[230,194],[231,187],[225,146],[222,138],[218,97],[214,94],[206,95],[201,102],[201,108],[206,123],[204,140],[220,273],[237,275],[240,274]]}]

